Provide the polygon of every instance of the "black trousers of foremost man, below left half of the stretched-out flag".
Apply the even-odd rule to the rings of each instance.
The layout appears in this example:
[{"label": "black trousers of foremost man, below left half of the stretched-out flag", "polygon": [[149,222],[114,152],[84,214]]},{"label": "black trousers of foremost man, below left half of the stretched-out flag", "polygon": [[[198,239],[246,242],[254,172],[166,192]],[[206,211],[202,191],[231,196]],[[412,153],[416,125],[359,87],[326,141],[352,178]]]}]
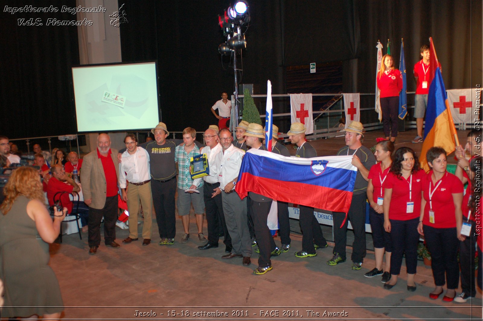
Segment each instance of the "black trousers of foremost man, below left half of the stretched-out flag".
[{"label": "black trousers of foremost man, below left half of the stretched-out flag", "polygon": [[260,250],[260,255],[258,256],[258,266],[260,267],[271,266],[270,252],[275,250],[276,247],[267,225],[271,203],[271,201],[256,202],[250,199],[250,203],[248,204],[248,212],[254,224],[256,242]]}]

